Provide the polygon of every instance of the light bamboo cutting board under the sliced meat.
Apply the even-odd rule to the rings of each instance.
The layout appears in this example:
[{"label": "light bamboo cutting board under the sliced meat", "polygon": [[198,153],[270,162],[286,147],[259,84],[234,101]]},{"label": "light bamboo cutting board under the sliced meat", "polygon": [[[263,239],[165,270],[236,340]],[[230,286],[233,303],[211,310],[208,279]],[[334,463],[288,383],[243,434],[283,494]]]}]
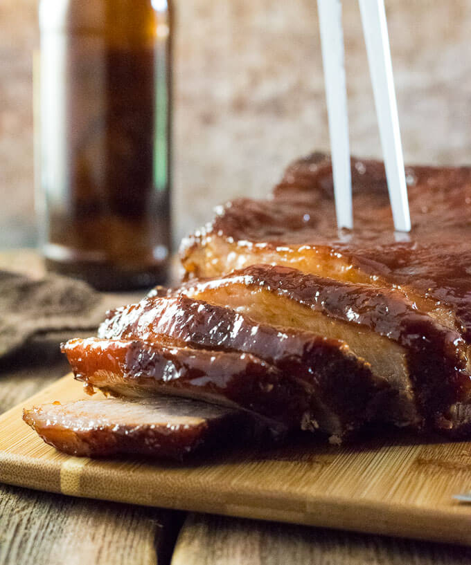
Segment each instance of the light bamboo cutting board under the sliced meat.
[{"label": "light bamboo cutting board under the sliced meat", "polygon": [[0,416],[0,481],[78,497],[471,545],[471,443],[414,438],[227,452],[179,465],[67,456],[23,407],[82,398],[66,376]]}]

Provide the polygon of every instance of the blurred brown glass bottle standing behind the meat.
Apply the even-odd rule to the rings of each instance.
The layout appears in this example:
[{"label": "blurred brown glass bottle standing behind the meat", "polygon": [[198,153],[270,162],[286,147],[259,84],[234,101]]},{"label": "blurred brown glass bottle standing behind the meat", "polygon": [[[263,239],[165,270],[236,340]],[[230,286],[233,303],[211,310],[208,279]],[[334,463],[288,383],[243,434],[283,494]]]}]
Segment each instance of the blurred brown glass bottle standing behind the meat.
[{"label": "blurred brown glass bottle standing behind the meat", "polygon": [[39,3],[40,244],[101,290],[165,281],[170,0]]}]

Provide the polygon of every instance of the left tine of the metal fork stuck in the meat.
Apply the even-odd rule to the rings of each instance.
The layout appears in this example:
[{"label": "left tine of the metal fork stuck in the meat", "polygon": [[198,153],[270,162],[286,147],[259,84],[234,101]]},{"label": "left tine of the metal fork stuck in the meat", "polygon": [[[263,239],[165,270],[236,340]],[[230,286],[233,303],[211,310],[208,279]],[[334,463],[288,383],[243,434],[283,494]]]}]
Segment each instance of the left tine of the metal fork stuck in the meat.
[{"label": "left tine of the metal fork stuck in the meat", "polygon": [[335,211],[339,228],[353,228],[350,147],[341,0],[317,0],[326,82]]}]

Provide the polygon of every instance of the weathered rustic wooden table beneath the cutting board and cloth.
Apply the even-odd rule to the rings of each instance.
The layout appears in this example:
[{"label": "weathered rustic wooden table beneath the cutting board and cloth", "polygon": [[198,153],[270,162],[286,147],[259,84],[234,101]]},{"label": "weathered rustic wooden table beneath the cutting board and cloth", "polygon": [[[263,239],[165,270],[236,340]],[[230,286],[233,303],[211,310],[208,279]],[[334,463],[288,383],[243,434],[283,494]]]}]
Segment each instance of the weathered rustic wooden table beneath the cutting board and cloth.
[{"label": "weathered rustic wooden table beneath the cutting board and cloth", "polygon": [[[33,252],[0,268],[42,271]],[[132,295],[130,295],[132,299]],[[57,342],[0,362],[0,413],[64,375]],[[471,527],[471,525],[470,525]],[[0,485],[0,565],[465,565],[471,548],[143,508]]]}]

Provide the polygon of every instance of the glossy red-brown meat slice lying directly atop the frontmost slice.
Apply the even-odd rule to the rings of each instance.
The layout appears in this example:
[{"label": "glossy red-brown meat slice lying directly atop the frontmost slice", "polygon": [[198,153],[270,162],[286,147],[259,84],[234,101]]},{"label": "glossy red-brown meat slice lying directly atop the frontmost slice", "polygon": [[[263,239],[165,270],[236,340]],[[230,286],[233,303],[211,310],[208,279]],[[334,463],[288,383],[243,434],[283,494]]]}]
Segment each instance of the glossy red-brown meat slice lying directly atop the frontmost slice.
[{"label": "glossy red-brown meat slice lying directly atop the frontmost slice", "polygon": [[274,433],[299,427],[305,387],[249,353],[166,347],[158,342],[70,340],[62,346],[75,378],[115,396],[188,396],[274,418]]}]

